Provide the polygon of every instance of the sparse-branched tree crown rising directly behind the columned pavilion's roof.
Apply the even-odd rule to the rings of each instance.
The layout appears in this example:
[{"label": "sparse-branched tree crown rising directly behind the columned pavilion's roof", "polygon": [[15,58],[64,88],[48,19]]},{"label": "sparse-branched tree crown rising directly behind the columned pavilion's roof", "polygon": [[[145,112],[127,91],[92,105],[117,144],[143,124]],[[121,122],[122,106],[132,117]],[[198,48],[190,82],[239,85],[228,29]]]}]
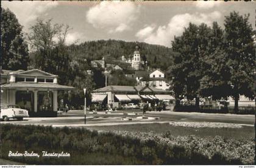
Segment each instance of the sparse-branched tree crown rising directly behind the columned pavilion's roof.
[{"label": "sparse-branched tree crown rising directly behind the columned pavilion's roof", "polygon": [[34,60],[31,65],[34,68],[48,72],[55,72],[63,66],[66,69],[69,57],[66,54],[65,38],[68,30],[68,26],[52,24],[51,19],[37,19],[27,35],[32,49],[30,56]]}]

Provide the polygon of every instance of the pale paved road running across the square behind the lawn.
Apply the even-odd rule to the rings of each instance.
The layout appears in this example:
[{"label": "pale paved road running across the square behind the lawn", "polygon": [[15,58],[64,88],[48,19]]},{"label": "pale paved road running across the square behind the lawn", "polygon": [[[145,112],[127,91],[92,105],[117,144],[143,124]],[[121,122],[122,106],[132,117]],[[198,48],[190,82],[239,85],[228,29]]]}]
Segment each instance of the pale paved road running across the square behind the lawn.
[{"label": "pale paved road running across the square behind the lawn", "polygon": [[[87,126],[90,125],[118,125],[118,124],[136,124],[151,122],[170,122],[170,121],[183,121],[183,122],[226,122],[234,124],[247,124],[254,125],[254,115],[237,115],[237,114],[206,114],[206,113],[185,113],[173,111],[151,111],[146,113],[148,119],[141,119],[141,111],[112,111],[111,113],[98,113],[87,114]],[[156,118],[155,117],[159,117]],[[125,119],[124,119],[125,118]],[[132,119],[129,121],[129,119]],[[69,111],[59,117],[38,117],[38,118],[25,118],[24,121],[9,121],[2,123],[12,124],[35,124],[35,125],[54,125],[62,127],[65,125],[70,126],[84,126],[84,111]]]}]

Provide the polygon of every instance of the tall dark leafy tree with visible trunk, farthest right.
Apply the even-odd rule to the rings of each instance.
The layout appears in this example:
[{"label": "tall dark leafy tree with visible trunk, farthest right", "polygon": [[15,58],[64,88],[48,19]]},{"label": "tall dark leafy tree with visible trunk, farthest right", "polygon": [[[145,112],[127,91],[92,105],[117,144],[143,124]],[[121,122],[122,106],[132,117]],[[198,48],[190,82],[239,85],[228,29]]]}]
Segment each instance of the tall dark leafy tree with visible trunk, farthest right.
[{"label": "tall dark leafy tree with visible trunk, farthest right", "polygon": [[252,25],[249,23],[249,14],[241,16],[232,12],[226,16],[225,52],[228,57],[226,63],[230,68],[231,96],[235,99],[235,112],[238,112],[239,94],[255,97],[255,46]]}]

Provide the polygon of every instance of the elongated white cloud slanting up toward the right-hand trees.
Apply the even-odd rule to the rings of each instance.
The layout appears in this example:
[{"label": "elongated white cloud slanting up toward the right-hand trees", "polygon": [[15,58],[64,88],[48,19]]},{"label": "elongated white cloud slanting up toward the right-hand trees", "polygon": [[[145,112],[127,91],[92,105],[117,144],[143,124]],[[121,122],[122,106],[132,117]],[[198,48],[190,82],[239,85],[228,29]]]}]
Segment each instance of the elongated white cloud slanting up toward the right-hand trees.
[{"label": "elongated white cloud slanting up toward the right-hand trees", "polygon": [[171,41],[174,40],[174,36],[182,35],[185,27],[188,24],[201,24],[205,23],[208,26],[212,26],[212,22],[221,18],[221,13],[218,11],[212,13],[184,13],[175,15],[171,18],[166,26],[158,26],[154,28],[147,26],[137,32],[136,37],[150,44],[160,44],[163,46],[171,46]]}]

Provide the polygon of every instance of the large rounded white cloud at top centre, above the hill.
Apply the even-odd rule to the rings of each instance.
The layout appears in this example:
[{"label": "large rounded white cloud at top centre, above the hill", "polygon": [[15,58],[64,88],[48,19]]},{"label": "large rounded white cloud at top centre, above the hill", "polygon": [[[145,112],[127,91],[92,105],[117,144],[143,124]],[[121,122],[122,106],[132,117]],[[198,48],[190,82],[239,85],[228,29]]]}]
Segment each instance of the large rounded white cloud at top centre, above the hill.
[{"label": "large rounded white cloud at top centre, above the hill", "polygon": [[93,27],[108,33],[131,29],[137,19],[140,6],[130,1],[103,1],[88,10],[86,18]]}]

